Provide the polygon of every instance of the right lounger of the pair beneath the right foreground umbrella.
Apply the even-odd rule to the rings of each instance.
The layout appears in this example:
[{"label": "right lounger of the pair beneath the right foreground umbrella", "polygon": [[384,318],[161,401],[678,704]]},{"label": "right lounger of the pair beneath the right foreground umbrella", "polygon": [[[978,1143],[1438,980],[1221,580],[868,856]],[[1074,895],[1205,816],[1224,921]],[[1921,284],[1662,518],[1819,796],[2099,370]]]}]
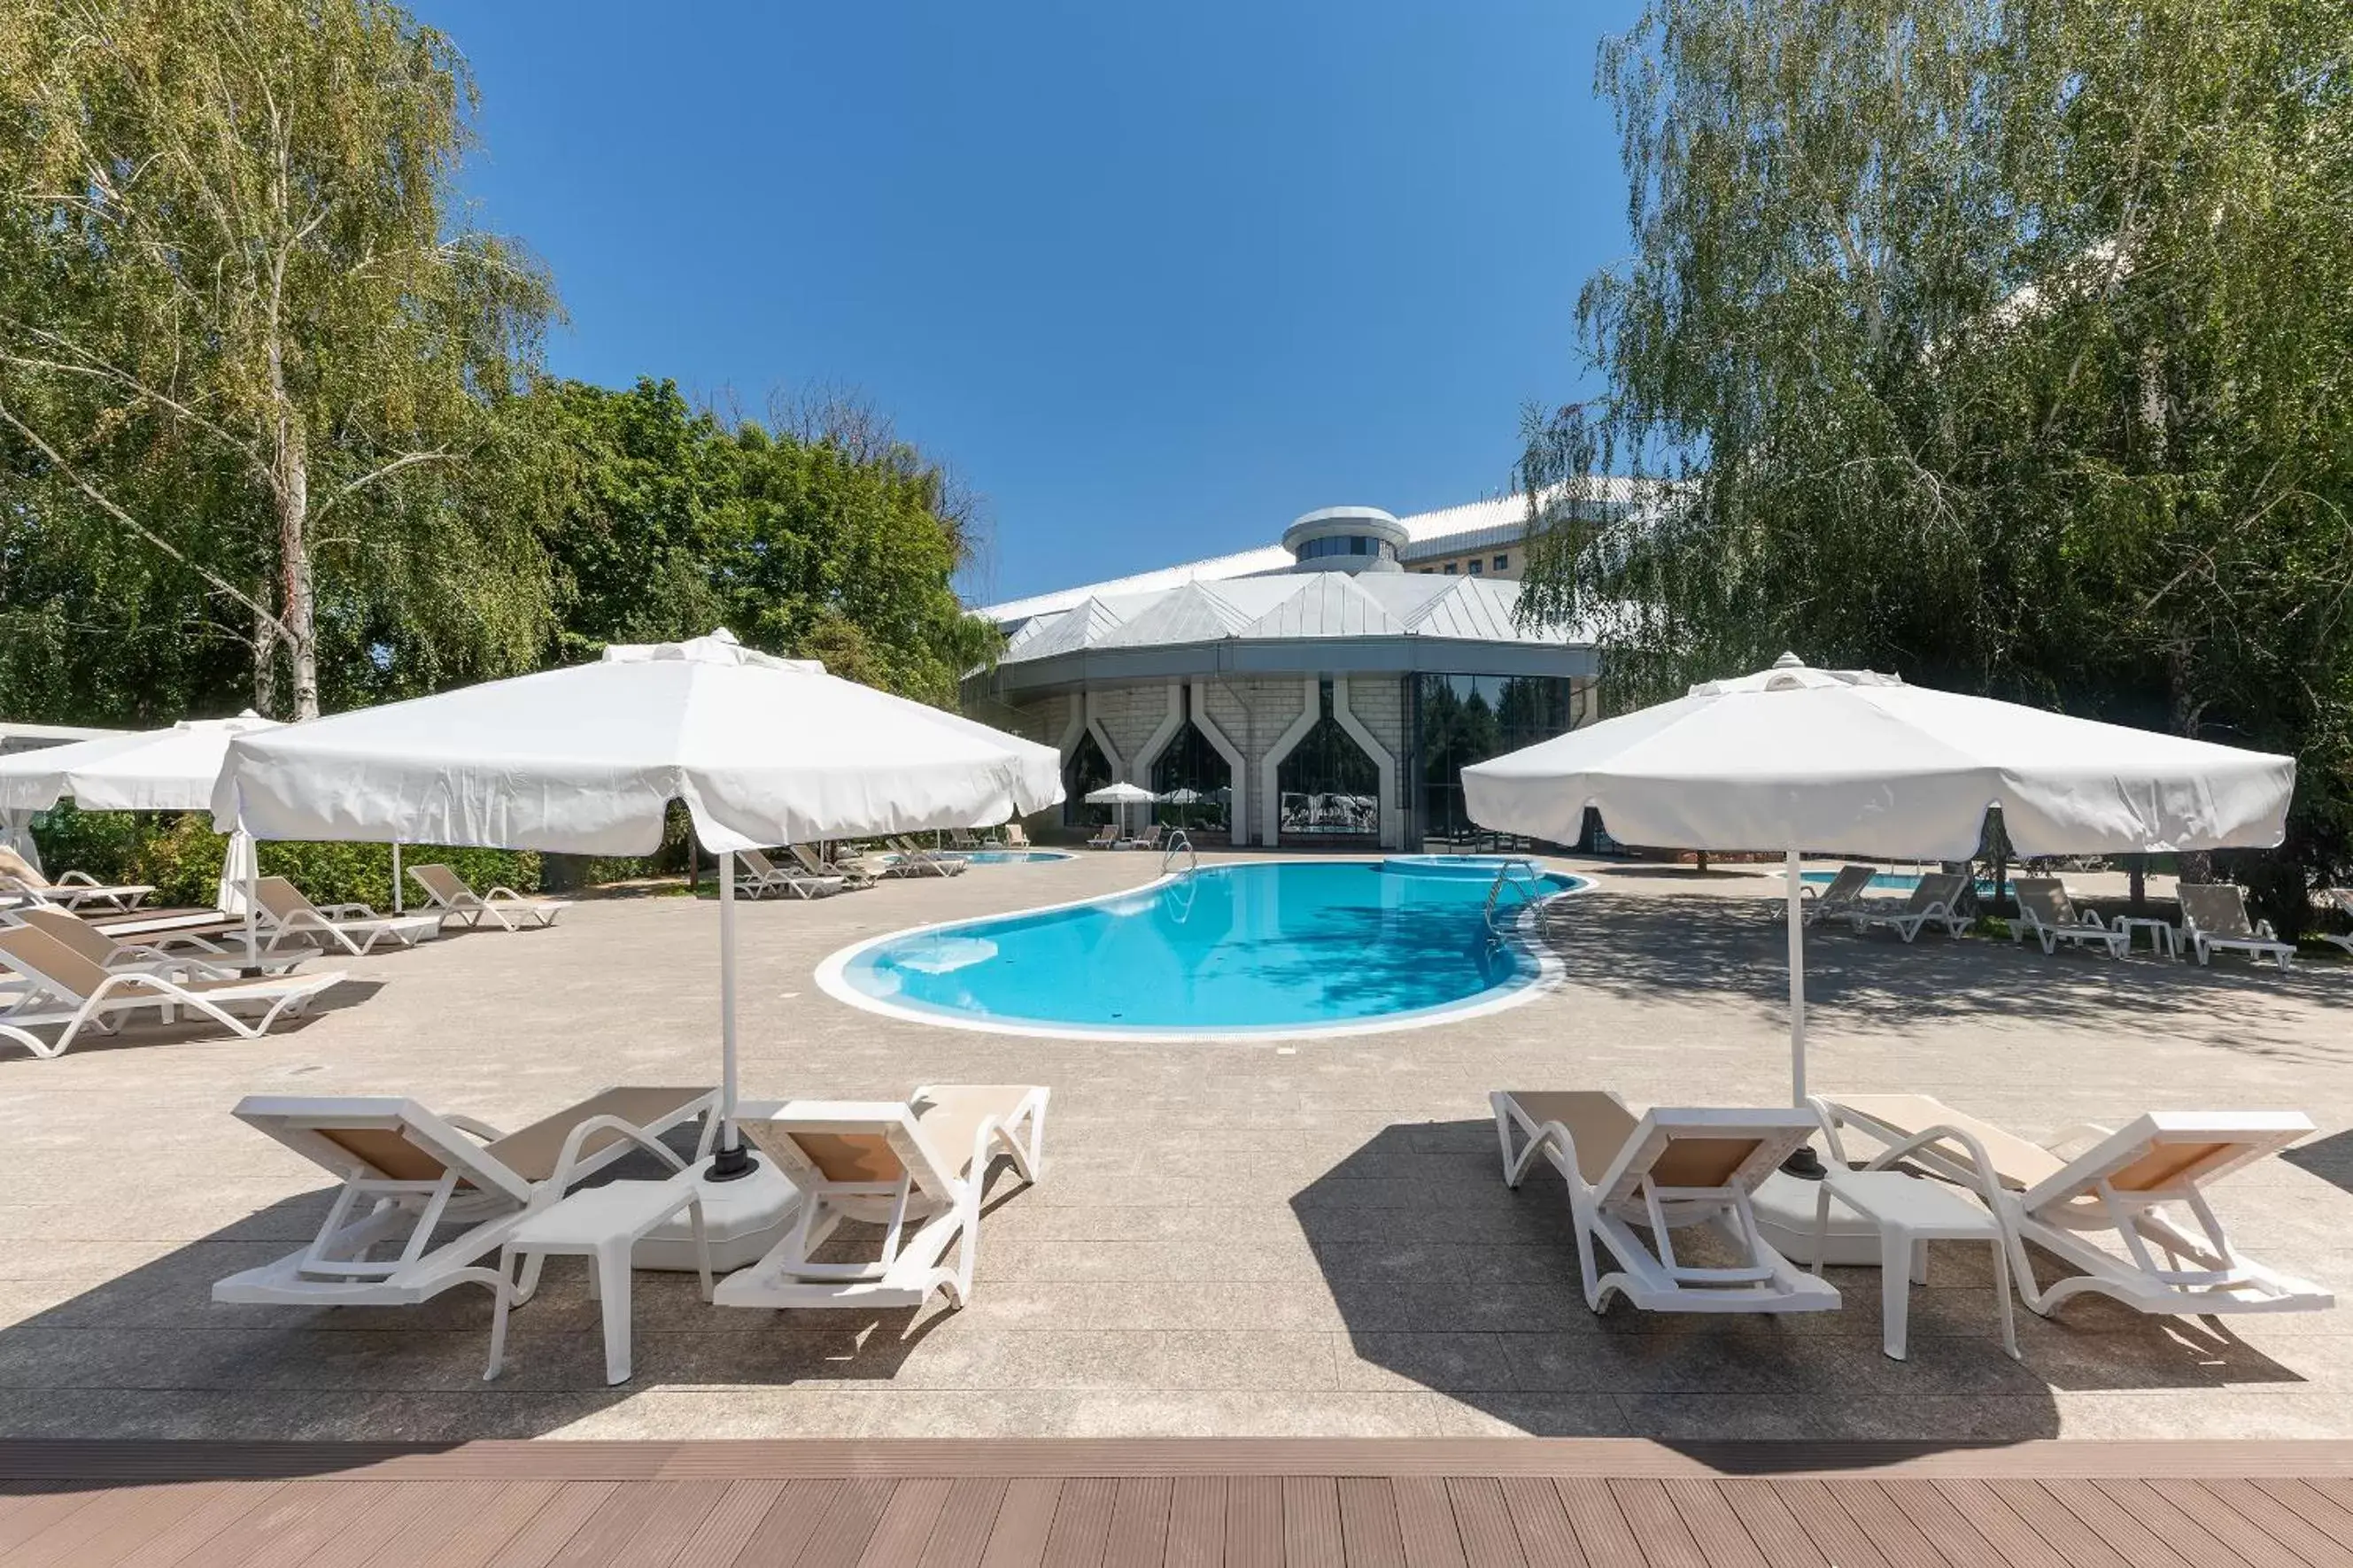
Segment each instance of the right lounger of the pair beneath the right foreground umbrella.
[{"label": "right lounger of the pair beneath the right foreground umbrella", "polygon": [[[1840,1131],[1859,1128],[1885,1145],[1871,1168],[1911,1164],[1977,1192],[1979,1173],[1991,1173],[2009,1274],[2045,1316],[2087,1293],[2186,1316],[2334,1305],[2320,1286],[2240,1255],[2205,1197],[2212,1182],[2311,1133],[2299,1112],[2148,1112],[2115,1131],[2080,1126],[2028,1143],[1929,1095],[1845,1095],[1817,1107],[1833,1159],[1845,1159]],[[2169,1204],[2191,1227],[2165,1213]],[[2042,1288],[2028,1241],[2075,1274]]]}]

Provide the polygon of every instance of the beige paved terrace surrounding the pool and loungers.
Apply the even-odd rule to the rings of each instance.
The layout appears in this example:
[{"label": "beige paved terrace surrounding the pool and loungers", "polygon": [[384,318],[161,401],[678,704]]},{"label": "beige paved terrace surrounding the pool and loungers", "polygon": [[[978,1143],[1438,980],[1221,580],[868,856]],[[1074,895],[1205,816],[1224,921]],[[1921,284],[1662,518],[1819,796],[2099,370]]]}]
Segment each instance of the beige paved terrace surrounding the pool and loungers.
[{"label": "beige paved terrace surrounding the pool and loungers", "polygon": [[[485,1385],[489,1300],[219,1307],[304,1241],[313,1166],[233,1121],[245,1093],[407,1093],[520,1124],[616,1081],[715,1077],[708,900],[600,898],[546,933],[452,933],[336,964],[351,985],[261,1041],[141,1030],[0,1056],[0,1436],[2353,1436],[2353,1314],[2021,1314],[2000,1354],[1984,1248],[1939,1251],[1913,1359],[1878,1352],[1875,1272],[1802,1319],[1586,1312],[1558,1180],[1506,1192],[1485,1095],[1788,1091],[1779,879],[1579,865],[1565,976],[1454,1025],[1129,1046],[878,1018],[821,957],[918,922],[1127,889],[1092,853],[744,905],[746,1095],[1054,1088],[1047,1180],[998,1187],[962,1312],[725,1312],[638,1276],[635,1380],[555,1262]],[[2226,966],[2228,964],[2228,966]],[[2219,1199],[2242,1246],[2353,1291],[2353,966],[2292,976],[1986,940],[1809,940],[1814,1081],[1925,1091],[2047,1133],[2144,1107],[2297,1107],[2320,1133]]]}]

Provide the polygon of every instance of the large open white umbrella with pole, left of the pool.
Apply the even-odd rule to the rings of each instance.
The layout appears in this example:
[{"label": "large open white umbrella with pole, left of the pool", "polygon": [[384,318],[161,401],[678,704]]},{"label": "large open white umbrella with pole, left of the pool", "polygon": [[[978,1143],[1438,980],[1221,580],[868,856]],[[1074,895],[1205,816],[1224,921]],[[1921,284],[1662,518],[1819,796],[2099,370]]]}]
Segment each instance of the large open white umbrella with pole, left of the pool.
[{"label": "large open white umbrella with pole, left of the pool", "polygon": [[720,858],[722,1171],[739,1173],[734,853],[1040,811],[1061,759],[718,630],[240,736],[212,811],[264,839],[642,856],[673,799]]}]

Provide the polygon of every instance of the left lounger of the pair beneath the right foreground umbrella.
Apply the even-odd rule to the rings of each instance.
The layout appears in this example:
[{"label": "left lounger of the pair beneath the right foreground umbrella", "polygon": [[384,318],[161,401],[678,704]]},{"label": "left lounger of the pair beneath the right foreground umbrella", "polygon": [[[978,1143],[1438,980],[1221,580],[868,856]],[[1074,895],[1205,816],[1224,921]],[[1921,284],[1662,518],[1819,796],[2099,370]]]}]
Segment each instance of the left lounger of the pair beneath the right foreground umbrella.
[{"label": "left lounger of the pair beneath the right foreground umbrella", "polygon": [[[1497,1091],[1504,1180],[1518,1187],[1541,1154],[1569,1185],[1577,1267],[1593,1312],[1624,1295],[1645,1312],[1826,1312],[1838,1291],[1758,1234],[1748,1194],[1819,1131],[1814,1112],[1649,1110],[1605,1091]],[[1649,1229],[1649,1241],[1635,1234]],[[1673,1232],[1711,1225],[1739,1253],[1729,1267],[1675,1258]],[[1617,1269],[1602,1274],[1593,1244]]]}]

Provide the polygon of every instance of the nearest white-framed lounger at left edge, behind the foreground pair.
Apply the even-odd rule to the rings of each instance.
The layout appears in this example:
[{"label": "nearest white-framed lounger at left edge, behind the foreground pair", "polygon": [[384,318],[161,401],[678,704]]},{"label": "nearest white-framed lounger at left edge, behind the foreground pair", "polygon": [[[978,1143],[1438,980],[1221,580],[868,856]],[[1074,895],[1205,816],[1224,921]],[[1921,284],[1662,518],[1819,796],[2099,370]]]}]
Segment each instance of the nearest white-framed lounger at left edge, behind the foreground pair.
[{"label": "nearest white-framed lounger at left edge, behind the foreground pair", "polygon": [[[40,1058],[64,1056],[82,1030],[111,1034],[118,1018],[146,1009],[155,1009],[165,1023],[186,1009],[240,1039],[259,1039],[280,1018],[301,1016],[313,997],[344,978],[334,971],[259,978],[113,971],[33,926],[0,929],[0,966],[24,978],[24,992],[7,1013],[0,1013],[0,1039],[12,1039]],[[261,1018],[245,1020],[228,1011],[233,1006],[264,1011]],[[54,1041],[33,1034],[49,1025],[64,1025]]]}]

